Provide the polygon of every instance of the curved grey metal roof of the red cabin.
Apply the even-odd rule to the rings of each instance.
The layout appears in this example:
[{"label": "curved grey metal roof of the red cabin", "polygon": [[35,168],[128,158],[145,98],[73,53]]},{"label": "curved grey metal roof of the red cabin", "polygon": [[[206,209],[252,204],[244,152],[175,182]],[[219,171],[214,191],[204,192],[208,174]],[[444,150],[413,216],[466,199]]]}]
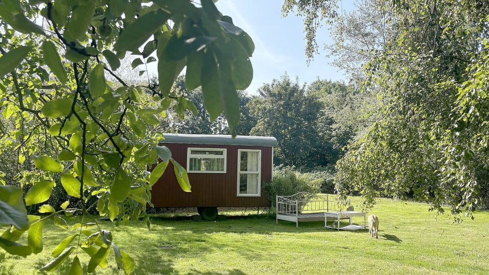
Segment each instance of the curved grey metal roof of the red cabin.
[{"label": "curved grey metal roof of the red cabin", "polygon": [[277,139],[274,137],[236,136],[231,135],[191,135],[191,134],[163,134],[163,143],[190,143],[215,145],[248,145],[276,147]]}]

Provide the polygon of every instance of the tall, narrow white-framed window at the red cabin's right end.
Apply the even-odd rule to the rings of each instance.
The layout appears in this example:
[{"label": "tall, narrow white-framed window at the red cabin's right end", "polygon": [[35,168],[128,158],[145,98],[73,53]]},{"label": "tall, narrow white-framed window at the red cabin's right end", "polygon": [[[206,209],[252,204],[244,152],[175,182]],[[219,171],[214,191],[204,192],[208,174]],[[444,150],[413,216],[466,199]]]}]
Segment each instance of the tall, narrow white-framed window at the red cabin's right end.
[{"label": "tall, narrow white-framed window at the red cabin's right end", "polygon": [[238,150],[238,196],[259,196],[261,150]]}]

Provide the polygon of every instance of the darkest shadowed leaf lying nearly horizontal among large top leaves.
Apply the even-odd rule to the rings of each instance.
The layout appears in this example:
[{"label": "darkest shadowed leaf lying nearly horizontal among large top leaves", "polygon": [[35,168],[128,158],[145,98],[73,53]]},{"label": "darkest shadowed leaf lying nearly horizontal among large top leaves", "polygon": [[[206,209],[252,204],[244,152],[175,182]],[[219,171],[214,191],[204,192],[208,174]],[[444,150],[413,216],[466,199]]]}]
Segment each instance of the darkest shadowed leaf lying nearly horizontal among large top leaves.
[{"label": "darkest shadowed leaf lying nearly horizontal among large top leaves", "polygon": [[187,55],[203,50],[216,38],[210,36],[178,37],[174,34],[165,48],[166,60],[180,60]]}]

